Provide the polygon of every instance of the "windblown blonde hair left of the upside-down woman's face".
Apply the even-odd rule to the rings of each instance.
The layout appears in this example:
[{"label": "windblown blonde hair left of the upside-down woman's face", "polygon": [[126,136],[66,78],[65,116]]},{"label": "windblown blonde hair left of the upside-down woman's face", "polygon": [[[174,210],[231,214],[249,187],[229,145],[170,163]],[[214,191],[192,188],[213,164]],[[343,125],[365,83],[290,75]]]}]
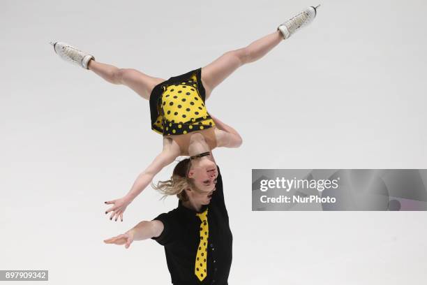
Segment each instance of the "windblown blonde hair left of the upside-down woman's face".
[{"label": "windblown blonde hair left of the upside-down woman's face", "polygon": [[157,185],[151,182],[151,187],[162,193],[162,198],[177,195],[179,200],[187,201],[188,196],[185,189],[192,189],[196,192],[202,193],[202,191],[195,185],[195,180],[188,177],[190,167],[190,159],[183,159],[179,161],[172,172],[170,180],[158,181]]}]

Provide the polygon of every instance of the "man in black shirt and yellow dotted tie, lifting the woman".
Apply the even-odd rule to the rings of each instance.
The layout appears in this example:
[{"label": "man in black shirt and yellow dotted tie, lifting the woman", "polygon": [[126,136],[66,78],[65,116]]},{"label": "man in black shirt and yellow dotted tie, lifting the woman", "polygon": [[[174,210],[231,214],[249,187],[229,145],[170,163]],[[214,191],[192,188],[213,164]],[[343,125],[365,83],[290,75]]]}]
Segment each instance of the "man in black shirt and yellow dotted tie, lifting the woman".
[{"label": "man in black shirt and yellow dotted tie, lifting the woman", "polygon": [[[125,244],[128,248],[134,240],[151,238],[165,247],[172,284],[226,285],[232,263],[232,233],[218,166],[216,171],[212,191],[184,189],[174,210],[152,221],[141,221],[126,233],[104,242]],[[211,175],[215,177],[216,173]]]}]

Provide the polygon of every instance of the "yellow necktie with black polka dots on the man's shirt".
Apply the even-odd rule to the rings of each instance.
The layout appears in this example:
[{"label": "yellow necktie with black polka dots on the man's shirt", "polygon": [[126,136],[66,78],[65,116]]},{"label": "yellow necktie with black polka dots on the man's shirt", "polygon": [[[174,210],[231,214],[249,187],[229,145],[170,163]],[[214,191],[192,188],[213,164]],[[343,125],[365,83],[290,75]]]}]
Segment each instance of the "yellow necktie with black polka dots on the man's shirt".
[{"label": "yellow necktie with black polka dots on the man's shirt", "polygon": [[209,237],[207,209],[204,212],[196,215],[200,218],[202,223],[200,224],[200,244],[197,248],[194,273],[200,281],[203,281],[203,279],[207,276],[207,240]]}]

